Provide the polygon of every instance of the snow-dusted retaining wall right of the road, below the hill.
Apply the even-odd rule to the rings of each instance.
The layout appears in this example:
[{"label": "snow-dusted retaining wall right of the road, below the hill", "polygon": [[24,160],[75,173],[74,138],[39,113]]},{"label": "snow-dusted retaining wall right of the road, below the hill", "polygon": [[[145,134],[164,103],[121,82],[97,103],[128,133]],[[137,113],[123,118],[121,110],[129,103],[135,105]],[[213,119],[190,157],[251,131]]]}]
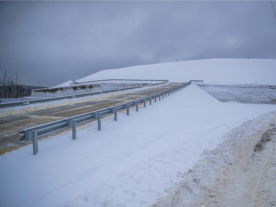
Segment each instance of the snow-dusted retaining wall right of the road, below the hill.
[{"label": "snow-dusted retaining wall right of the road, below the hill", "polygon": [[198,84],[219,101],[248,104],[276,104],[276,85]]}]

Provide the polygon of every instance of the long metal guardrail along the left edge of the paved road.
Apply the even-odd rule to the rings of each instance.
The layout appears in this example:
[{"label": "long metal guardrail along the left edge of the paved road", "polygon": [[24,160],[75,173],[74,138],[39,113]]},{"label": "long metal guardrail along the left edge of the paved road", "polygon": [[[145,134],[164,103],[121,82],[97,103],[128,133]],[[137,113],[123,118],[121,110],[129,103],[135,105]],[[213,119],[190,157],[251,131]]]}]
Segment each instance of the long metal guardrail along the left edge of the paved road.
[{"label": "long metal guardrail along the left edge of the paved road", "polygon": [[[148,81],[160,81],[160,80],[148,80]],[[54,98],[32,99],[32,100],[28,100],[28,101],[17,101],[17,102],[11,102],[11,103],[4,103],[4,104],[0,104],[0,108],[11,107],[11,106],[24,106],[26,104],[44,103],[44,102],[48,102],[48,101],[57,101],[57,100],[62,100],[62,99],[84,97],[84,96],[97,95],[97,94],[102,94],[102,93],[110,93],[110,92],[115,92],[115,91],[124,91],[124,90],[129,90],[129,89],[136,89],[136,88],[142,88],[142,87],[148,87],[148,86],[161,85],[161,84],[168,83],[168,80],[163,80],[163,81],[164,82],[154,83],[151,85],[113,89],[113,90],[108,90],[108,91],[98,91],[98,92],[91,92],[91,93],[81,93],[81,94],[75,94],[75,95],[60,96],[60,97],[54,97]]]}]

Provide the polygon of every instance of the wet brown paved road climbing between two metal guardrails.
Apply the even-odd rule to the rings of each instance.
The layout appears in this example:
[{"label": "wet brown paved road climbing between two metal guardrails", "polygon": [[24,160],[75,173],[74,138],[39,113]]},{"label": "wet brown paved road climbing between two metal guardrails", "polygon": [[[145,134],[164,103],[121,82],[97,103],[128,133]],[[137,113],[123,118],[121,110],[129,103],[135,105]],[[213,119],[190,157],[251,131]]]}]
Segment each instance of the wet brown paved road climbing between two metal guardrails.
[{"label": "wet brown paved road climbing between two metal guardrails", "polygon": [[[143,97],[154,95],[183,84],[185,83],[169,83],[167,85],[161,85],[155,88],[145,89],[143,91],[103,98],[97,101],[91,100],[77,104],[27,112],[15,116],[2,117],[0,119],[0,155],[31,143],[28,141],[22,143],[19,142],[20,136],[18,135],[18,132],[22,129],[142,99]],[[93,99],[93,96],[91,99]],[[49,136],[49,134],[40,136],[39,139],[47,136]]]}]

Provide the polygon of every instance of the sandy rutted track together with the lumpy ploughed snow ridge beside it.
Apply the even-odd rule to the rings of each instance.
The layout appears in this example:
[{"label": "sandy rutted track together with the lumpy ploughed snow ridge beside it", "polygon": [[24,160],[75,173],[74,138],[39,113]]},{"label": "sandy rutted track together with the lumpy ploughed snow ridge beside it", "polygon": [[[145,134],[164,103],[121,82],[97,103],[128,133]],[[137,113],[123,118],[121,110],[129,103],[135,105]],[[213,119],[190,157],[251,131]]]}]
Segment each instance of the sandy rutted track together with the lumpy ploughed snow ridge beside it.
[{"label": "sandy rutted track together with the lumpy ploughed snow ridge beside it", "polygon": [[[217,149],[203,152],[205,157],[187,173],[179,174],[182,180],[164,189],[167,195],[158,198],[151,207],[273,206],[276,203],[274,129],[271,129],[273,139],[263,145],[265,148],[257,156],[254,148],[274,123],[276,111],[271,111],[229,131]],[[261,203],[264,200],[261,195],[266,196],[265,204]]]}]

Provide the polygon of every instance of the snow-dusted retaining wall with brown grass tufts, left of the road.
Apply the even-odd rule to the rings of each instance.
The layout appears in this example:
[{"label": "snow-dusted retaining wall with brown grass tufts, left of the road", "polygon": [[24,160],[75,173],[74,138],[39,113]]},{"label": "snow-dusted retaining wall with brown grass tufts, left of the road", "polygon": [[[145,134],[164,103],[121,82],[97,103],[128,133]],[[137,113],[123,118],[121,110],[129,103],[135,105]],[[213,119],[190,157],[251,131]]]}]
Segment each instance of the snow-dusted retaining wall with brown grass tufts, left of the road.
[{"label": "snow-dusted retaining wall with brown grass tufts, left of the road", "polygon": [[137,86],[149,86],[153,83],[122,83],[122,82],[103,82],[103,83],[93,83],[87,85],[76,85],[68,87],[59,88],[47,88],[47,89],[37,89],[32,90],[31,97],[35,98],[52,98],[67,95],[76,95],[82,93],[92,93],[99,91],[108,91],[114,89],[122,89]]}]

